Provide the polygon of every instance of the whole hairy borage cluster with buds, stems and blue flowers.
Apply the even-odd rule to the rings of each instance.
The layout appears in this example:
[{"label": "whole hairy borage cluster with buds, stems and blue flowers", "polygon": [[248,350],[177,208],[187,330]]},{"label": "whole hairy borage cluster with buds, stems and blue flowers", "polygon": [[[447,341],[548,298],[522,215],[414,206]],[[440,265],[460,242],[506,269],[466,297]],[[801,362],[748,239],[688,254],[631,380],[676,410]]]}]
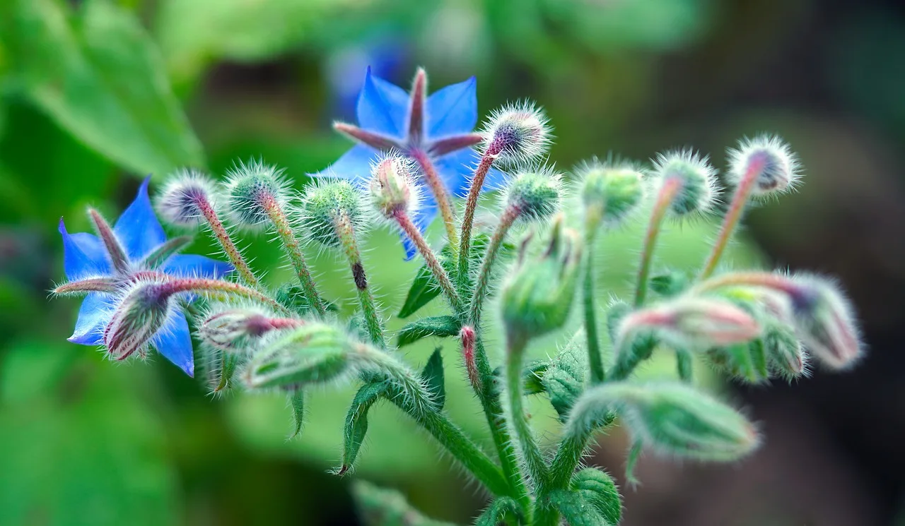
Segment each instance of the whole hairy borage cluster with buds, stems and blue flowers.
[{"label": "whole hairy borage cluster with buds, stems and blue flowers", "polygon": [[[69,234],[61,222],[70,281],[55,291],[87,295],[71,341],[101,345],[116,360],[145,356],[153,346],[192,374],[191,305],[214,391],[284,392],[299,433],[307,390],[357,382],[336,473],[354,467],[368,410],[386,399],[491,493],[479,524],[616,524],[622,501],[614,481],[582,465],[595,434],[616,422],[632,440],[630,478],[644,449],[715,462],[747,456],[759,444],[757,427],[695,387],[694,362],[767,383],[804,377],[815,365],[843,370],[862,357],[852,308],[833,280],[720,265],[748,203],[787,192],[800,178],[781,139],[758,136],[730,150],[731,187],[722,191],[717,170],[692,150],[657,155],[651,164],[592,159],[563,174],[547,164],[550,129],[535,106],[501,108],[475,133],[473,79],[430,97],[426,86],[424,70],[408,94],[368,71],[358,126],[335,125],[357,146],[300,194],[262,162],[236,164],[223,183],[194,171],[173,174],[157,197],[159,214],[176,227],[209,232],[229,264],[176,253],[189,239],[166,239],[147,180],[114,226],[89,211],[97,236]],[[481,194],[493,190],[500,190],[497,221],[483,231],[475,214]],[[654,275],[667,218],[713,213],[720,193],[728,206],[700,272]],[[445,245],[434,250],[424,229],[438,211]],[[642,211],[647,230],[633,296],[603,302],[595,245]],[[409,258],[422,260],[399,316],[437,296],[443,315],[387,332],[358,248],[376,223],[397,230]],[[268,230],[292,281],[266,283],[231,226]],[[336,251],[348,265],[357,294],[350,319],[340,319],[312,277],[311,245]],[[498,301],[489,302],[494,295]],[[484,316],[487,305],[499,305],[500,315]],[[485,339],[487,319],[501,324],[500,352]],[[556,356],[526,363],[539,337],[573,326],[570,320],[580,326]],[[415,371],[396,350],[428,337],[450,338],[455,345],[446,348],[459,352],[437,349]],[[674,354],[675,380],[637,380],[639,365],[658,351]],[[500,363],[491,360],[497,356]],[[492,448],[467,437],[444,411],[444,359],[462,362]],[[525,411],[534,395],[549,400],[562,424],[551,451],[538,443]],[[393,493],[362,491],[369,506],[426,521]]]}]

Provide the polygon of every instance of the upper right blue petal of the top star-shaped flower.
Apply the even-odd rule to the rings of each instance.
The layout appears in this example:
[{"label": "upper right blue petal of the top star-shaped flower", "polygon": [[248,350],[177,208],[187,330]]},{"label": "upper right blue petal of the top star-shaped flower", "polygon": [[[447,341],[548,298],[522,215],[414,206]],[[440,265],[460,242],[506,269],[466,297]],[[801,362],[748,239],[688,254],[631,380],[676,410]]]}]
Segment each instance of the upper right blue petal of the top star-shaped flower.
[{"label": "upper right blue petal of the top star-shaped flower", "polygon": [[431,137],[471,133],[478,122],[477,80],[472,77],[434,92],[427,99]]}]

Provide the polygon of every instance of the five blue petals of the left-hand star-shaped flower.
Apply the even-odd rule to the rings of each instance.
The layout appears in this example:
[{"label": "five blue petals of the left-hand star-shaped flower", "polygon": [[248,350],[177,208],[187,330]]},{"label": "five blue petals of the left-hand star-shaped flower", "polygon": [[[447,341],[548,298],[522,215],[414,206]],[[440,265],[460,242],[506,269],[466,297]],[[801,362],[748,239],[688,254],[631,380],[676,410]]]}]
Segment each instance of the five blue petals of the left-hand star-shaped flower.
[{"label": "five blue petals of the left-hand star-shaped flower", "polygon": [[[138,195],[129,208],[122,212],[112,228],[112,235],[119,240],[125,253],[125,261],[117,262],[104,242],[94,234],[70,234],[60,220],[63,244],[63,268],[71,281],[109,277],[117,282],[127,282],[136,272],[156,271],[175,277],[223,277],[233,268],[228,263],[204,256],[173,254],[162,261],[152,262],[149,256],[167,241],[163,227],[148,198],[148,179],[141,183]],[[106,292],[91,292],[85,296],[75,322],[75,331],[69,337],[72,343],[100,345],[103,333],[112,315],[115,296]],[[188,332],[186,315],[174,309],[167,323],[151,339],[157,352],[186,371],[195,374],[192,355],[192,338]]]}]

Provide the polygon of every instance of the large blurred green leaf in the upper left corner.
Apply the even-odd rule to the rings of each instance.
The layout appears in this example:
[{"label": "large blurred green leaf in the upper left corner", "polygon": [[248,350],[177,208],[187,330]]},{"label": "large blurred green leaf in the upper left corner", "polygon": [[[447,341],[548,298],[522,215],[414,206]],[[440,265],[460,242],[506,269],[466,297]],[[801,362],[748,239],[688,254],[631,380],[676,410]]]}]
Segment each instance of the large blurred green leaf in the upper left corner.
[{"label": "large blurred green leaf in the upper left corner", "polygon": [[202,146],[138,20],[108,0],[7,0],[16,85],[60,126],[138,174],[202,166]]}]

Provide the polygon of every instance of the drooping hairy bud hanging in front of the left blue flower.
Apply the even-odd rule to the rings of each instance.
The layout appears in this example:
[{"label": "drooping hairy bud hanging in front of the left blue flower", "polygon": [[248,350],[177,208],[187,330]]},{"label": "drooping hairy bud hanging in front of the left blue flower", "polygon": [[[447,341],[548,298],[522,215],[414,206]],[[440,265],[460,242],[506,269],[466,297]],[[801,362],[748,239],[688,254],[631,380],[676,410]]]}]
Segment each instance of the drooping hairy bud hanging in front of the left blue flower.
[{"label": "drooping hairy bud hanging in front of the left blue flower", "polygon": [[114,360],[125,360],[135,352],[144,355],[151,338],[166,324],[171,296],[162,294],[159,285],[139,281],[129,286],[115,305],[103,337]]}]

